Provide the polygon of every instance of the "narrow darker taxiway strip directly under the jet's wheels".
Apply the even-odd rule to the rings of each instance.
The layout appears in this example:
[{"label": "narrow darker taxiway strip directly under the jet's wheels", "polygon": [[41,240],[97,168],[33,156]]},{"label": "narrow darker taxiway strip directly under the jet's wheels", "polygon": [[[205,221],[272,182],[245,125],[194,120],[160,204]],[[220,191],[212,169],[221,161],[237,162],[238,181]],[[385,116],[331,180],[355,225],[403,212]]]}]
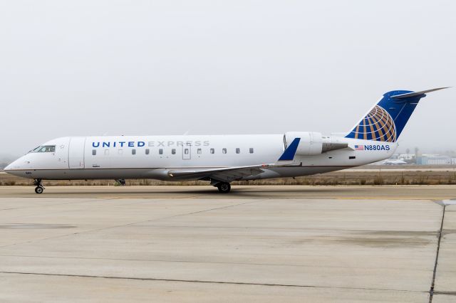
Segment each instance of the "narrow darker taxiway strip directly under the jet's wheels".
[{"label": "narrow darker taxiway strip directly under the jet's wheels", "polygon": [[[45,184],[46,186],[46,184]],[[33,186],[0,186],[0,197],[38,198]],[[39,198],[347,198],[429,199],[456,198],[455,185],[405,186],[232,186],[221,195],[213,186],[48,186]]]}]

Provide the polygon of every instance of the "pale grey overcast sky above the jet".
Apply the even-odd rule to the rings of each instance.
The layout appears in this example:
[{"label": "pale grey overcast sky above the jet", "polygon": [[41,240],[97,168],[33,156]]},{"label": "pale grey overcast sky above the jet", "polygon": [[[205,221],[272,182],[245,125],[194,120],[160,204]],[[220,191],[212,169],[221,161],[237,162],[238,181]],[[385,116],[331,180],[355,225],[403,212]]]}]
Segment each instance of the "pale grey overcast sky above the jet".
[{"label": "pale grey overcast sky above the jet", "polygon": [[[0,154],[101,134],[348,131],[383,92],[456,85],[455,1],[0,0]],[[403,149],[456,149],[456,88]]]}]

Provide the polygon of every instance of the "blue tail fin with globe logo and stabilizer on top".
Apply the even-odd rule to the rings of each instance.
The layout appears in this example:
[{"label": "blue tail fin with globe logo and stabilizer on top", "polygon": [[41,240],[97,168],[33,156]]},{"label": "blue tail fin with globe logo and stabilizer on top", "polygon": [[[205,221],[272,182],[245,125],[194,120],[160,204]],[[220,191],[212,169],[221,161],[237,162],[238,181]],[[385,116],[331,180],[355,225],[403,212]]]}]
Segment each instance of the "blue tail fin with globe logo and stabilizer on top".
[{"label": "blue tail fin with globe logo and stabilizer on top", "polygon": [[396,142],[405,124],[426,92],[442,90],[440,87],[421,92],[393,90],[383,95],[380,102],[358,122],[346,138]]}]

